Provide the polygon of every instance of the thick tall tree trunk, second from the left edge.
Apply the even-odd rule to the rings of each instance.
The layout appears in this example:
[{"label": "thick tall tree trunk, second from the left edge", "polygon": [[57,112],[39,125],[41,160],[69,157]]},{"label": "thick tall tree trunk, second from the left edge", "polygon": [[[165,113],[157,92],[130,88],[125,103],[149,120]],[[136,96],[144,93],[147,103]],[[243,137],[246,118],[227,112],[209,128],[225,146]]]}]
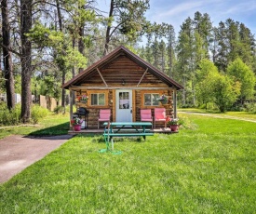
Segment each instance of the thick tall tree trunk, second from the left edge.
[{"label": "thick tall tree trunk, second from the left edge", "polygon": [[28,123],[31,117],[31,42],[26,36],[32,28],[32,0],[20,0],[21,39],[21,120]]}]

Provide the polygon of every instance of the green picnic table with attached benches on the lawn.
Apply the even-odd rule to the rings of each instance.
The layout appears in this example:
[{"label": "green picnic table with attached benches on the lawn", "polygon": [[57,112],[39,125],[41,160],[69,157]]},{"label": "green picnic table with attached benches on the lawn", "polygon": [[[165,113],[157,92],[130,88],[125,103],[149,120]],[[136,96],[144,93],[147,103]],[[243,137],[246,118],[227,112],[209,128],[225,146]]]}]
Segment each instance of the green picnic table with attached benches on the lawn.
[{"label": "green picnic table with attached benches on the lawn", "polygon": [[153,136],[154,133],[150,132],[150,129],[146,127],[152,127],[150,122],[113,122],[104,123],[104,139],[107,145],[107,151],[110,150],[109,142],[112,142],[112,151],[114,151],[114,137],[143,137],[146,140],[146,136]]}]

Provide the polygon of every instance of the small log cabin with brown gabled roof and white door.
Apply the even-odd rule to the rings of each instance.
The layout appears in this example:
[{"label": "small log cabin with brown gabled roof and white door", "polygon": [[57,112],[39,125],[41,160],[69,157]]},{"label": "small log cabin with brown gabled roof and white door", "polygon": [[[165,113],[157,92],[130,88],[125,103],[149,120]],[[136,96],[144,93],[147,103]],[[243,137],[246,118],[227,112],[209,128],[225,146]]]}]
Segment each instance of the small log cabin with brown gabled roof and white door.
[{"label": "small log cabin with brown gabled roof and white door", "polygon": [[[167,114],[176,118],[176,93],[183,87],[128,48],[120,46],[62,88],[70,90],[70,100],[75,100],[77,108],[87,108],[88,127],[96,128],[100,109],[111,109],[111,121],[114,122],[140,121],[141,109],[151,109],[154,116],[154,108],[159,107],[165,107]],[[86,103],[81,101],[83,95],[88,97]],[[157,100],[162,95],[168,97],[167,104]],[[71,118],[73,105],[71,101]]]}]

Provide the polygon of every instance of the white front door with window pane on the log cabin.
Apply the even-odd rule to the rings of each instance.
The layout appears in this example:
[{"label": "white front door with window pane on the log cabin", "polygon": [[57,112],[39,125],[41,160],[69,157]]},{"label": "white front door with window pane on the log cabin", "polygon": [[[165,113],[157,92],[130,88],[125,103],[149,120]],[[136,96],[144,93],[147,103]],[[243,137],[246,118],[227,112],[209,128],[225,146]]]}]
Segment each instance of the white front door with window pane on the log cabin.
[{"label": "white front door with window pane on the log cabin", "polygon": [[116,122],[132,122],[132,90],[116,90]]}]

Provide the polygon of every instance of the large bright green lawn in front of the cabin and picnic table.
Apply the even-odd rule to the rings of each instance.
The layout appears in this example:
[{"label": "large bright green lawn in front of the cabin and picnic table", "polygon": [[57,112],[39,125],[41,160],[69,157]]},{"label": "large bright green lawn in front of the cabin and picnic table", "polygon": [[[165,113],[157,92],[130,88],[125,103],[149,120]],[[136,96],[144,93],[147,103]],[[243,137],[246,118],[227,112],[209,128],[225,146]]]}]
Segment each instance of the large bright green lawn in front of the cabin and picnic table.
[{"label": "large bright green lawn in front of the cabin and picnic table", "polygon": [[186,115],[195,130],[76,136],[0,185],[0,213],[255,213],[256,123]]}]

